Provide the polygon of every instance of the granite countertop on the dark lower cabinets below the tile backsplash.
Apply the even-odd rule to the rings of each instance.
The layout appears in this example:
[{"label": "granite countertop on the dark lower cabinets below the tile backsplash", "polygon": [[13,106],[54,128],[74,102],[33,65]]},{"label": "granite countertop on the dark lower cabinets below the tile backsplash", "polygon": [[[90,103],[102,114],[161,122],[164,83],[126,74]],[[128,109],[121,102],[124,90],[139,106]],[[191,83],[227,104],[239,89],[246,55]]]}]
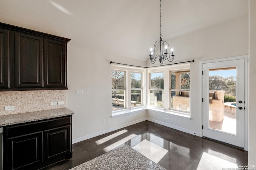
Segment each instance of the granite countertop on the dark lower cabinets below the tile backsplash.
[{"label": "granite countertop on the dark lower cabinets below the tile backsplash", "polygon": [[0,127],[7,126],[7,125],[15,125],[18,123],[26,123],[31,121],[51,119],[55,117],[62,117],[62,116],[73,115],[73,114],[74,112],[68,108],[60,108],[60,109],[33,111],[28,113],[1,115]]}]

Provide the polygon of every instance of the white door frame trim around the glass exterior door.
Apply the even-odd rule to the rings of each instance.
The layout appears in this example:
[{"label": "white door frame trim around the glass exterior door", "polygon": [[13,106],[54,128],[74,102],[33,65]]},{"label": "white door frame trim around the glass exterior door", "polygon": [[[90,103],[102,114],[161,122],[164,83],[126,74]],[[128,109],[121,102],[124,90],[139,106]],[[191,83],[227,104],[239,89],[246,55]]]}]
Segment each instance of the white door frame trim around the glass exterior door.
[{"label": "white door frame trim around the glass exterior door", "polygon": [[[248,55],[241,55],[236,57],[227,57],[221,59],[213,59],[213,60],[206,60],[200,61],[200,97],[203,98],[203,64],[207,63],[215,63],[215,62],[222,62],[222,61],[231,61],[231,60],[238,60],[244,59],[244,75],[245,75],[245,82],[244,82],[244,150],[248,151]],[[200,102],[200,136],[203,137],[203,102]]]}]

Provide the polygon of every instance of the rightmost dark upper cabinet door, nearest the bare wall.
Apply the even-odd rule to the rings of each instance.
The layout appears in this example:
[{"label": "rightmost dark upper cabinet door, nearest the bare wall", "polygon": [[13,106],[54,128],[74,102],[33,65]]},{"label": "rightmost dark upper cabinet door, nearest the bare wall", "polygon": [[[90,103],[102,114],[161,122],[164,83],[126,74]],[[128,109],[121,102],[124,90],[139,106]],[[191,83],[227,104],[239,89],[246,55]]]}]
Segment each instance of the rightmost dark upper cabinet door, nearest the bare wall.
[{"label": "rightmost dark upper cabinet door, nearest the bare wall", "polygon": [[66,61],[66,42],[44,39],[44,87],[67,89]]}]

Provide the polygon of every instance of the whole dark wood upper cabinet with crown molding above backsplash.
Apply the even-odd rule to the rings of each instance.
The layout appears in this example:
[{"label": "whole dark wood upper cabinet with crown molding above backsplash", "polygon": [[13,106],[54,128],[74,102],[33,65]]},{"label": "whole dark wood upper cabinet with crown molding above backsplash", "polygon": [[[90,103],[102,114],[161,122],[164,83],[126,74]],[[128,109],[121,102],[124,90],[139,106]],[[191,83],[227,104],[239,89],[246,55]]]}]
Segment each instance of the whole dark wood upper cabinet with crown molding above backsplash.
[{"label": "whole dark wood upper cabinet with crown molding above backsplash", "polygon": [[0,23],[0,91],[68,89],[68,41]]}]

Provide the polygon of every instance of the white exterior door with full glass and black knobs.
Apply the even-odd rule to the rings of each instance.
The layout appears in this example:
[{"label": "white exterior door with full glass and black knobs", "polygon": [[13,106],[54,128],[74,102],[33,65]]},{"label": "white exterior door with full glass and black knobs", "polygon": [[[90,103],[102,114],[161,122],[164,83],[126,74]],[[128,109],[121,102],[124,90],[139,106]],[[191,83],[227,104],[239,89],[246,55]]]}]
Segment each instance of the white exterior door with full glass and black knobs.
[{"label": "white exterior door with full glass and black knobs", "polygon": [[203,64],[203,136],[244,148],[244,59]]}]

